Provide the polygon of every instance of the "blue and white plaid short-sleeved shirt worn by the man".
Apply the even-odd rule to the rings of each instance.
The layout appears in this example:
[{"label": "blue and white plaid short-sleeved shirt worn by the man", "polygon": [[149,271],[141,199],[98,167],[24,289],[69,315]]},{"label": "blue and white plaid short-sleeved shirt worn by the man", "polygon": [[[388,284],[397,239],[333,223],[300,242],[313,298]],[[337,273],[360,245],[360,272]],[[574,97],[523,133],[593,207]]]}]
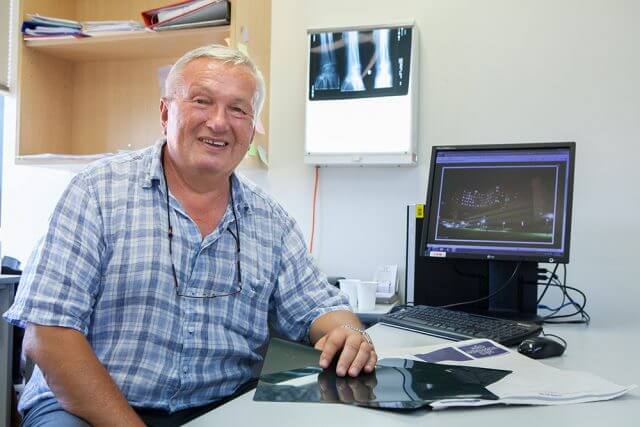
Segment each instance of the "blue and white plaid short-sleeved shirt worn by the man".
[{"label": "blue and white plaid short-sleeved shirt worn by the man", "polygon": [[[230,395],[255,376],[268,324],[308,340],[314,319],[349,308],[314,264],[295,221],[236,175],[242,292],[178,297],[163,144],[96,162],[74,177],[4,318],[80,331],[131,405],[173,412]],[[173,197],[170,212],[180,294],[237,289],[231,207],[204,239]],[[20,410],[49,396],[36,367]]]}]

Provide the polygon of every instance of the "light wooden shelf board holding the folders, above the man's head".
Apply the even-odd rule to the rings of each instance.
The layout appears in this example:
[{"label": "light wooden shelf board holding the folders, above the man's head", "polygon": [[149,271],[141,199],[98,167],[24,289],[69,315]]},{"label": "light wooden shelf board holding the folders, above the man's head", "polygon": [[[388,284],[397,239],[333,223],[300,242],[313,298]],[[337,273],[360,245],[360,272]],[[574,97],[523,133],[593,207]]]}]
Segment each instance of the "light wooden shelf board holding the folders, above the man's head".
[{"label": "light wooden shelf board holding the folders, above the man's head", "polygon": [[226,44],[225,38],[229,34],[229,26],[224,25],[186,30],[132,31],[83,39],[26,40],[24,43],[29,49],[56,58],[91,62],[179,57],[193,46]]}]

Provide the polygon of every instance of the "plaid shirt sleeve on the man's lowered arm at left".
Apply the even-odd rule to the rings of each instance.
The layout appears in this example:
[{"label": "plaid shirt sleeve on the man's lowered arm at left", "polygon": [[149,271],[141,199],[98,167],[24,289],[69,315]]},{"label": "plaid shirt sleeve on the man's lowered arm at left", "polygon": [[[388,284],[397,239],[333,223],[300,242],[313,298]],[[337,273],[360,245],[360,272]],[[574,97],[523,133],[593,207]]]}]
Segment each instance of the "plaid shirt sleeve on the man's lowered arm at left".
[{"label": "plaid shirt sleeve on the man's lowered arm at left", "polygon": [[63,326],[87,334],[105,248],[93,194],[82,174],[64,191],[25,266],[15,301],[4,313],[9,323]]}]

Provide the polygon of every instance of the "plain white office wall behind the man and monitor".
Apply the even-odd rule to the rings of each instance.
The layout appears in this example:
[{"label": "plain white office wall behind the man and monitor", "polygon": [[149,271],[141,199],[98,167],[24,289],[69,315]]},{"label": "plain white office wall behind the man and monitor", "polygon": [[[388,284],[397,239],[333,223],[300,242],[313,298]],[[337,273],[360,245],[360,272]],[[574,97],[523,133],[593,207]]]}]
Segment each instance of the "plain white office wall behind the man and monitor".
[{"label": "plain white office wall behind the man and monitor", "polygon": [[[320,266],[367,278],[378,264],[404,265],[404,206],[424,200],[431,146],[571,140],[577,166],[569,284],[587,291],[596,322],[635,321],[626,302],[640,301],[638,16],[635,0],[273,0],[271,167],[248,175],[309,236],[306,29],[415,20],[419,165],[320,170]],[[0,239],[5,254],[24,260],[71,173],[12,165],[11,145],[4,151]]]}]

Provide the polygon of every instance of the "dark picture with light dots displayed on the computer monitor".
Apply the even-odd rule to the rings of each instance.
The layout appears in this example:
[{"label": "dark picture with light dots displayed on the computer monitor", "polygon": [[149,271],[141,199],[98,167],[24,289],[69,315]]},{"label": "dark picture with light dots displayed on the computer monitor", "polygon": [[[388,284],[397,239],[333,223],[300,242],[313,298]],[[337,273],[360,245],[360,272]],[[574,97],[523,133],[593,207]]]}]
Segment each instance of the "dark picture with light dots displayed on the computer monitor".
[{"label": "dark picture with light dots displayed on the computer monitor", "polygon": [[553,244],[557,172],[554,166],[443,168],[436,240]]}]

